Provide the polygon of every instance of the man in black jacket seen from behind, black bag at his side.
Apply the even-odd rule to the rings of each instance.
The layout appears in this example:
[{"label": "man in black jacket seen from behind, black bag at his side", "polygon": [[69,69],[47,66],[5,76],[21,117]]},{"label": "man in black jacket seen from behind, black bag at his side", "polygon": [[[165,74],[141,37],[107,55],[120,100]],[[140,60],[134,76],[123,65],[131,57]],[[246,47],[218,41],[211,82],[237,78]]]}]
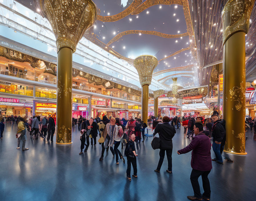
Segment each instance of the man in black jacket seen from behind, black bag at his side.
[{"label": "man in black jacket seen from behind, black bag at his side", "polygon": [[176,130],[173,126],[169,124],[170,118],[168,116],[163,117],[163,123],[157,124],[155,127],[155,132],[153,135],[159,133],[159,137],[161,139],[161,146],[160,146],[160,152],[159,152],[159,162],[158,166],[155,169],[155,172],[160,172],[160,168],[163,164],[163,159],[165,158],[165,151],[167,155],[168,160],[168,169],[166,172],[172,173],[172,158],[171,154],[173,152],[173,141],[172,138],[174,134],[176,133]]}]

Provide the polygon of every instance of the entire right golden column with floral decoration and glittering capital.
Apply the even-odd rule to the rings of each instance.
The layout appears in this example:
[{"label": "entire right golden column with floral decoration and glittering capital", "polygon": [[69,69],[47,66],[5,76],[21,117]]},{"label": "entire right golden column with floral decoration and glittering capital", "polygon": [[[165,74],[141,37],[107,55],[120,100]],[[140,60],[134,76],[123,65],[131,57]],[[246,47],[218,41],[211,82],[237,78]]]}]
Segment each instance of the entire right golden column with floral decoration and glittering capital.
[{"label": "entire right golden column with floral decoration and glittering capital", "polygon": [[225,152],[245,152],[245,34],[254,0],[229,0],[223,11],[223,119]]}]

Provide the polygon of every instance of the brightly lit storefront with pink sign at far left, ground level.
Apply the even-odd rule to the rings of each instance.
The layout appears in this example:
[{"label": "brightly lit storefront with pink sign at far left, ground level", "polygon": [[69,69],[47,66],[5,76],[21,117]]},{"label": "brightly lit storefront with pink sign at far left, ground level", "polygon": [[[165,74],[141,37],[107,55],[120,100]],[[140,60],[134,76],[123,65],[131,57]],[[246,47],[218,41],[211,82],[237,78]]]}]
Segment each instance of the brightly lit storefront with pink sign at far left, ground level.
[{"label": "brightly lit storefront with pink sign at far left, ground level", "polygon": [[33,104],[25,100],[0,97],[0,110],[2,116],[31,116]]}]

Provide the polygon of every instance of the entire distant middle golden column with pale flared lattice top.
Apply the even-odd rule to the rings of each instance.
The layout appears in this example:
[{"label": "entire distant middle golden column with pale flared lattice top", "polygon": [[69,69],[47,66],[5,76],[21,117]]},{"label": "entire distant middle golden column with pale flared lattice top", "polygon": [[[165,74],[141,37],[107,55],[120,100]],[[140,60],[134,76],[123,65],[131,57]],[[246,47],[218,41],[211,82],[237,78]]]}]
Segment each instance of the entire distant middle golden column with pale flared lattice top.
[{"label": "entire distant middle golden column with pale flared lattice top", "polygon": [[134,67],[139,74],[139,81],[142,87],[142,120],[147,123],[148,118],[148,105],[149,105],[149,85],[152,80],[152,73],[157,67],[157,58],[151,55],[142,55],[134,59]]}]

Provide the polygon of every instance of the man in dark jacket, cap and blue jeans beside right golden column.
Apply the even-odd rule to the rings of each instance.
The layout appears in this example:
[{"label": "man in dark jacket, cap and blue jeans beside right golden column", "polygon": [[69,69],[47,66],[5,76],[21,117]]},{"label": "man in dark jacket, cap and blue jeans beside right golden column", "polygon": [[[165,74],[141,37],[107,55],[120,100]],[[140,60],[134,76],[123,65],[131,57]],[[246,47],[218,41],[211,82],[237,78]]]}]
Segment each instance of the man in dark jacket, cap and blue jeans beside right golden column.
[{"label": "man in dark jacket, cap and blue jeans beside right golden column", "polygon": [[226,130],[223,125],[225,125],[225,120],[219,119],[218,113],[211,116],[213,119],[212,136],[213,136],[213,151],[216,158],[213,161],[223,164],[221,157],[221,148],[226,142]]}]

